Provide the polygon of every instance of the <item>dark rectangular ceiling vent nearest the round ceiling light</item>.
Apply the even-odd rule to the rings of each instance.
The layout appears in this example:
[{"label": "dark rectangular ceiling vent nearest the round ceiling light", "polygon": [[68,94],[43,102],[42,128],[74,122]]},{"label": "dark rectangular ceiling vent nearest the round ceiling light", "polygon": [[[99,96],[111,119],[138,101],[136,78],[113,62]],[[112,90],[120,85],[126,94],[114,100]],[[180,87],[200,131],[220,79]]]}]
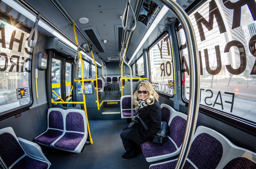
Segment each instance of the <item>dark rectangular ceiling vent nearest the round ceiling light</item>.
[{"label": "dark rectangular ceiling vent nearest the round ceiling light", "polygon": [[97,48],[99,53],[106,52],[106,49],[102,43],[102,40],[100,39],[100,36],[95,26],[81,28],[81,30],[85,33],[86,38],[90,40],[92,46]]}]

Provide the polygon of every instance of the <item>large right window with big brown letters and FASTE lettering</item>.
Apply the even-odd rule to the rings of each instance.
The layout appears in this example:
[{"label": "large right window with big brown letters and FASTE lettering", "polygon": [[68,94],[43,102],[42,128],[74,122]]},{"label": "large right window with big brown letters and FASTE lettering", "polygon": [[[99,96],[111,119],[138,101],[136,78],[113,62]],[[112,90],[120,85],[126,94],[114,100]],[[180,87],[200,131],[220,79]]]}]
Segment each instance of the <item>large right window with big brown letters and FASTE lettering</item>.
[{"label": "large right window with big brown letters and FASTE lettering", "polygon": [[[256,122],[256,21],[247,5],[241,7],[241,20],[233,13],[222,1],[208,0],[189,15],[199,51],[200,104]],[[188,100],[189,61],[182,26],[179,32]]]}]

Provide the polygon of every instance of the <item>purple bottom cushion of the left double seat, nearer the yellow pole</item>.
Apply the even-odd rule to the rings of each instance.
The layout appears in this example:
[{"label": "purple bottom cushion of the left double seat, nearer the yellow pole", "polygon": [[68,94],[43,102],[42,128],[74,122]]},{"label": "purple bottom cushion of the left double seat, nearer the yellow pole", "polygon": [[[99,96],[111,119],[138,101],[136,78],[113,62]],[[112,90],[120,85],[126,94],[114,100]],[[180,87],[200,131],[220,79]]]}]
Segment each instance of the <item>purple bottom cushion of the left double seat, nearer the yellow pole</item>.
[{"label": "purple bottom cushion of the left double seat, nearer the yellow pole", "polygon": [[84,134],[81,133],[71,133],[66,132],[64,136],[62,136],[54,146],[63,150],[74,151],[77,145],[83,139]]}]

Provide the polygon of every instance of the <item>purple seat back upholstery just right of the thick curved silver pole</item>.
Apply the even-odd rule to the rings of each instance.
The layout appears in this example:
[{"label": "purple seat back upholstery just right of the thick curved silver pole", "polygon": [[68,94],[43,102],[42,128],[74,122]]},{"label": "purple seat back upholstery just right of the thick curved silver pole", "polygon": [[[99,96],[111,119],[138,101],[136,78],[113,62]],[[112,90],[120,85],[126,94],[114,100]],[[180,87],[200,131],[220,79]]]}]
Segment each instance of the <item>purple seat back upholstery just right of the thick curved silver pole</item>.
[{"label": "purple seat back upholstery just right of the thick curved silver pole", "polygon": [[223,148],[219,140],[207,133],[196,136],[191,144],[188,159],[198,169],[215,169],[222,157]]}]

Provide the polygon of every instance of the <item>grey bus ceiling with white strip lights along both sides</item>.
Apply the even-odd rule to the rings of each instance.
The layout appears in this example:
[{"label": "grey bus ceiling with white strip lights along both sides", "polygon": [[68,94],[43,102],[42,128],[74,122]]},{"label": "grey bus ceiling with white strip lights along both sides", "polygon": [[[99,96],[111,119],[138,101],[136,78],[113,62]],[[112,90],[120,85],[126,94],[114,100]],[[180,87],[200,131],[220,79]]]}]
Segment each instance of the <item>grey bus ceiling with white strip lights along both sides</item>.
[{"label": "grey bus ceiling with white strip lights along both sides", "polygon": [[[182,0],[179,1],[179,4],[186,9],[193,2],[194,0],[189,2]],[[108,58],[119,59],[118,54],[122,49],[123,37],[121,18],[125,4],[125,0],[110,0],[108,3],[105,3],[104,0],[99,0],[96,3],[83,0],[77,0],[76,3],[69,0],[2,0],[1,9],[5,9],[4,13],[23,22],[28,27],[33,27],[36,16],[39,12],[42,13],[43,16],[38,23],[40,34],[47,38],[57,37],[76,50],[77,45],[72,27],[72,23],[75,23],[79,46],[90,42],[95,54],[104,62],[118,62],[118,60],[109,60]],[[147,7],[149,12],[141,13],[141,10],[143,11]],[[133,33],[130,34],[131,37],[136,38],[130,38],[126,52],[127,61],[131,65],[140,55],[142,49],[148,48],[159,34],[168,30],[169,25],[176,22],[177,18],[159,0],[131,0],[130,8],[134,11],[134,15],[132,17],[132,12],[128,13],[127,28],[132,28],[134,17],[138,21]],[[124,43],[127,43],[127,39],[128,33],[125,34]],[[85,57],[92,61],[92,56],[86,54]],[[98,63],[98,66],[101,65],[101,61]]]}]

